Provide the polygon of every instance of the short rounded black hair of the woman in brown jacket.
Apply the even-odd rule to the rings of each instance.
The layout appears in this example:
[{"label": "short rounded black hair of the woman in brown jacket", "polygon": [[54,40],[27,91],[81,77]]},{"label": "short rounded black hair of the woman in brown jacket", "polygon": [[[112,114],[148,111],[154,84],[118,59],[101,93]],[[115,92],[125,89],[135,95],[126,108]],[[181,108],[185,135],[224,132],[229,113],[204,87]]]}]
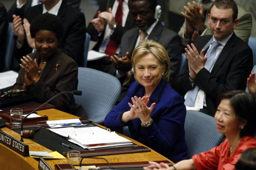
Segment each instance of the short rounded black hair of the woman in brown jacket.
[{"label": "short rounded black hair of the woman in brown jacket", "polygon": [[39,30],[52,31],[56,34],[58,40],[62,37],[63,34],[63,24],[60,17],[44,13],[36,16],[30,24],[30,35],[32,38],[35,38],[36,33]]}]

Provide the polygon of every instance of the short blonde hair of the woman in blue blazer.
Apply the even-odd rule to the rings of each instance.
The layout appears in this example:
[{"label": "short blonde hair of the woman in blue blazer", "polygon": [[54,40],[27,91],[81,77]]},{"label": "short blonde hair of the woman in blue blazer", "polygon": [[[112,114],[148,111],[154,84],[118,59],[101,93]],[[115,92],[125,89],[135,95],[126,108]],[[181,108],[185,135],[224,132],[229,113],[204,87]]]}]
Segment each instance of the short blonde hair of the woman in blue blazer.
[{"label": "short blonde hair of the woman in blue blazer", "polygon": [[160,43],[153,40],[140,41],[139,45],[134,49],[132,53],[132,68],[134,71],[135,79],[137,80],[135,63],[140,56],[146,55],[148,53],[155,55],[162,66],[165,65],[164,76],[162,76],[162,79],[166,82],[169,81],[169,70],[171,65],[170,58],[168,57],[166,49]]}]

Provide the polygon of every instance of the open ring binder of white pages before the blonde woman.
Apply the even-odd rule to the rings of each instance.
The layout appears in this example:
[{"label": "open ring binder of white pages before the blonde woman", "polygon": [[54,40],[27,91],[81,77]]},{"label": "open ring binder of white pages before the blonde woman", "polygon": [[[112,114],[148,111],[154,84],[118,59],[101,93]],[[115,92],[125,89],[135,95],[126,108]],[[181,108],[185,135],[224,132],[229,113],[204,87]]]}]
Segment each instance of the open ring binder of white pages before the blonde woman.
[{"label": "open ring binder of white pages before the blonde woman", "polygon": [[93,149],[108,146],[132,144],[132,141],[100,127],[86,128],[58,128],[49,129],[64,137],[69,137],[70,142],[78,144],[82,148]]}]

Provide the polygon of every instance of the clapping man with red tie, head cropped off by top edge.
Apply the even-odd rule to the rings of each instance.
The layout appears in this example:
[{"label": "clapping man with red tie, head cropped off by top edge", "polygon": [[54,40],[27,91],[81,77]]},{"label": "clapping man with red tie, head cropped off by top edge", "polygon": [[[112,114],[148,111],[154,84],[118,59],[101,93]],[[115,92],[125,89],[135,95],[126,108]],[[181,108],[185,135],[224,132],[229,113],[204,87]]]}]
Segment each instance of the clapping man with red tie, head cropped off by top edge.
[{"label": "clapping man with red tie, head cropped off by top edge", "polygon": [[[118,8],[122,12],[121,15],[118,13]],[[135,23],[128,8],[128,0],[100,1],[100,8],[87,27],[87,32],[91,35],[91,41],[97,41],[97,44],[92,49],[106,53],[109,56],[117,55],[120,51],[123,34],[134,26]],[[113,49],[109,50],[109,45],[113,41],[116,47],[111,47]],[[88,61],[87,67],[108,72],[112,66],[110,58],[105,57],[99,60]]]}]

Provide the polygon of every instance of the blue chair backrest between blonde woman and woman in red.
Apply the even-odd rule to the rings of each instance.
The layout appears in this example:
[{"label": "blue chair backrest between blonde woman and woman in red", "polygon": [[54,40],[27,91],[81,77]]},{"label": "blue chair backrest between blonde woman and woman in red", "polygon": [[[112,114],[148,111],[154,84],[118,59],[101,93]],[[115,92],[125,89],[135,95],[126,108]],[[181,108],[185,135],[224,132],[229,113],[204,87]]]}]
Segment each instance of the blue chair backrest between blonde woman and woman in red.
[{"label": "blue chair backrest between blonde woman and woman in red", "polygon": [[222,138],[223,135],[217,131],[216,122],[212,116],[187,110],[185,139],[188,145],[189,158],[217,146]]}]

